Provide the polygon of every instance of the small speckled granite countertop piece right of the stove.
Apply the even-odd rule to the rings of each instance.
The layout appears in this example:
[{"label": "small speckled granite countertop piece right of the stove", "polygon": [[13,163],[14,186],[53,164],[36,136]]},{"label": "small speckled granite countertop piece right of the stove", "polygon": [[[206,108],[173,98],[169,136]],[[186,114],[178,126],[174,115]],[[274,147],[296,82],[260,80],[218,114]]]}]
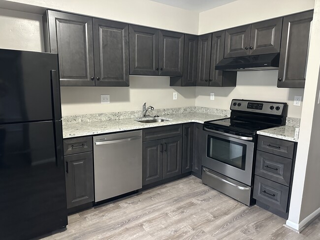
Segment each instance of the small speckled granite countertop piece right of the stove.
[{"label": "small speckled granite countertop piece right of the stove", "polygon": [[280,138],[292,142],[298,142],[299,127],[285,125],[257,131],[257,134],[273,138]]}]

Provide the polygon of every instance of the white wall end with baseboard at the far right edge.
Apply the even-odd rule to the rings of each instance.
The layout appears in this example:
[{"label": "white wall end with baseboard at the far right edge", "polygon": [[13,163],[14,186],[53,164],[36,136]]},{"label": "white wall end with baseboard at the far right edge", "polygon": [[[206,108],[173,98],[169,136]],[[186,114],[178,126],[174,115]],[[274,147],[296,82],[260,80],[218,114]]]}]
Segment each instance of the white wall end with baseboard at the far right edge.
[{"label": "white wall end with baseboard at the far right edge", "polygon": [[304,107],[295,161],[287,225],[300,230],[320,213],[320,0],[316,0],[311,28]]}]

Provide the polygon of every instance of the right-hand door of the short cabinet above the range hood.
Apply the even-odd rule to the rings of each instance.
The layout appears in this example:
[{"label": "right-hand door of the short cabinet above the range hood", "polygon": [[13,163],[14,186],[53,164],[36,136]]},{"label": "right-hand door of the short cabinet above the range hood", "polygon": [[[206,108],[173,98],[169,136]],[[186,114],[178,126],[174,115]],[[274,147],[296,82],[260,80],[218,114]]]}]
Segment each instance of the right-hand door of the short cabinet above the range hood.
[{"label": "right-hand door of the short cabinet above the range hood", "polygon": [[250,55],[280,52],[282,18],[251,25]]}]

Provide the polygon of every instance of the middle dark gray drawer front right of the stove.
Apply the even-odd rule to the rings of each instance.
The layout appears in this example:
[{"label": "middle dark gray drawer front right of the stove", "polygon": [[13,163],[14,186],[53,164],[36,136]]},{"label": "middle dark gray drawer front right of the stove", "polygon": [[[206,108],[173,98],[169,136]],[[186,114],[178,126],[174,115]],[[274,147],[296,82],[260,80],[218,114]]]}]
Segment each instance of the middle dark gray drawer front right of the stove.
[{"label": "middle dark gray drawer front right of the stove", "polygon": [[260,177],[290,185],[292,159],[264,151],[256,151],[255,174]]}]

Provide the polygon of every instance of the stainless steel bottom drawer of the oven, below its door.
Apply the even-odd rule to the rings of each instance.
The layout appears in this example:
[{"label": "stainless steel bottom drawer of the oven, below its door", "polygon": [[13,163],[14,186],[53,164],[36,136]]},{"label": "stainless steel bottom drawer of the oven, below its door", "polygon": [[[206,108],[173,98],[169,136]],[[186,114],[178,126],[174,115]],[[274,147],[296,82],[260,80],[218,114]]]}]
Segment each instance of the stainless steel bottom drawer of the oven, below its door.
[{"label": "stainless steel bottom drawer of the oven, below its door", "polygon": [[225,177],[208,168],[202,168],[202,183],[250,206],[251,187]]}]

